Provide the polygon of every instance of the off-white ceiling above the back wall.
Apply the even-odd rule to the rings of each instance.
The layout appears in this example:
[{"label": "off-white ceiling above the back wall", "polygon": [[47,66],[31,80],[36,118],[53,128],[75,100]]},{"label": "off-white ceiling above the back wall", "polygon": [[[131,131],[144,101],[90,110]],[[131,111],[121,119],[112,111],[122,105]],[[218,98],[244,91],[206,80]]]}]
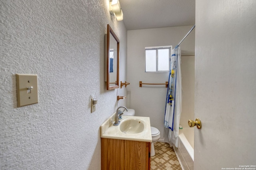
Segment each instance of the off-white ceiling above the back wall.
[{"label": "off-white ceiling above the back wall", "polygon": [[127,30],[195,24],[195,0],[119,0]]}]

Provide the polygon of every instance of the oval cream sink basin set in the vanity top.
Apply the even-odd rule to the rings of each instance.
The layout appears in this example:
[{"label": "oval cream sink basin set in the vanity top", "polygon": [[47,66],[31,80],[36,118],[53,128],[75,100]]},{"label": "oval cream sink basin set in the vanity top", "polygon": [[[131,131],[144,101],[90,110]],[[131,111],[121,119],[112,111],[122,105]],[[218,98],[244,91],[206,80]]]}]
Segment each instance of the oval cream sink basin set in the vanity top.
[{"label": "oval cream sink basin set in the vanity top", "polygon": [[120,131],[126,134],[141,133],[144,130],[145,123],[141,119],[126,119],[120,123]]}]

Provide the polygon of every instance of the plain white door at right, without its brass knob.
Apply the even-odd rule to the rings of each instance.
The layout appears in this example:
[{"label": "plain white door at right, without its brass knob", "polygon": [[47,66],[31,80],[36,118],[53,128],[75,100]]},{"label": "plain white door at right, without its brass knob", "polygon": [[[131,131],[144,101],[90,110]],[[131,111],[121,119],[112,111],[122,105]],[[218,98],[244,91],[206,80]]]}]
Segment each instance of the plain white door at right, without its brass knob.
[{"label": "plain white door at right, without its brass knob", "polygon": [[256,169],[256,0],[196,0],[195,37],[194,170]]}]

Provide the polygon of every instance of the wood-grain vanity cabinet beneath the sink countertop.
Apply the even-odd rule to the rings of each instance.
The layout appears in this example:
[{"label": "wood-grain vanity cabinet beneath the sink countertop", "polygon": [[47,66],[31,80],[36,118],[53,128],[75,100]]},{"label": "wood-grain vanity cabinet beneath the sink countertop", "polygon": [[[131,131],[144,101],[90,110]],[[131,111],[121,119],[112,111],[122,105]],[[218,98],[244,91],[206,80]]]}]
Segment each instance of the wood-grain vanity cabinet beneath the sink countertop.
[{"label": "wood-grain vanity cabinet beneath the sink countertop", "polygon": [[101,138],[101,170],[150,170],[150,142]]}]

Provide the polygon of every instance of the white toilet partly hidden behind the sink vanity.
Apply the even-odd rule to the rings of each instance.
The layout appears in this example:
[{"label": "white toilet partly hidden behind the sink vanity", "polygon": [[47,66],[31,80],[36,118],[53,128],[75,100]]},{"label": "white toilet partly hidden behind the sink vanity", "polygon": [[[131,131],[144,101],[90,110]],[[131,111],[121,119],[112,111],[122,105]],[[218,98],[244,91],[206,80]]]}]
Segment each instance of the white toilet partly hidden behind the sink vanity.
[{"label": "white toilet partly hidden behind the sink vanity", "polygon": [[[125,116],[135,116],[135,110],[134,109],[128,109],[128,111],[124,110],[123,112]],[[151,153],[150,156],[154,156],[156,154],[154,143],[160,139],[160,131],[155,128],[151,127],[151,137],[152,137],[152,143],[151,143]]]}]

